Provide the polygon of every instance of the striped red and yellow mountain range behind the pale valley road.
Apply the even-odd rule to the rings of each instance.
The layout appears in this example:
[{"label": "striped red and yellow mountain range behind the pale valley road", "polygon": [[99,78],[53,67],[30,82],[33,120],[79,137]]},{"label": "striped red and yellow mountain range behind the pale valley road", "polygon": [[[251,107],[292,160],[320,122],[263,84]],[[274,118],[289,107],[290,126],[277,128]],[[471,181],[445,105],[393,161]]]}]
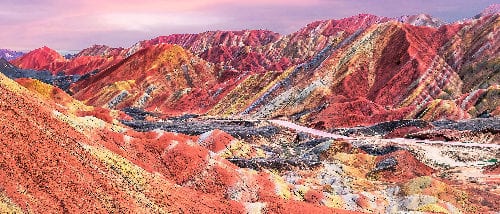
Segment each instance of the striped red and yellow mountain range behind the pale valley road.
[{"label": "striped red and yellow mountain range behind the pale valley road", "polygon": [[93,46],[66,59],[47,47],[11,61],[84,75],[88,105],[169,116],[283,117],[321,129],[399,119],[499,115],[498,13],[443,24],[362,14],[290,35],[265,30],[160,36]]}]

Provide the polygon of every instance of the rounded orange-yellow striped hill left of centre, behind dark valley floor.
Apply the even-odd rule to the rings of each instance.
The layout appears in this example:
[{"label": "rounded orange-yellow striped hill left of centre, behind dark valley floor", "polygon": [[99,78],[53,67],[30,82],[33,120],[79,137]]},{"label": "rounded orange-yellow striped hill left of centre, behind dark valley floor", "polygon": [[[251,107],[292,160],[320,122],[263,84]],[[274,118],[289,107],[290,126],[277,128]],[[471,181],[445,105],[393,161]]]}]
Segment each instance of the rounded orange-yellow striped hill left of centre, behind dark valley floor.
[{"label": "rounded orange-yellow striped hill left of centre, behind dark valley floor", "polygon": [[133,106],[168,114],[204,113],[217,102],[213,94],[219,75],[212,64],[182,47],[160,44],[141,49],[77,82],[71,90],[75,98],[94,106]]}]

